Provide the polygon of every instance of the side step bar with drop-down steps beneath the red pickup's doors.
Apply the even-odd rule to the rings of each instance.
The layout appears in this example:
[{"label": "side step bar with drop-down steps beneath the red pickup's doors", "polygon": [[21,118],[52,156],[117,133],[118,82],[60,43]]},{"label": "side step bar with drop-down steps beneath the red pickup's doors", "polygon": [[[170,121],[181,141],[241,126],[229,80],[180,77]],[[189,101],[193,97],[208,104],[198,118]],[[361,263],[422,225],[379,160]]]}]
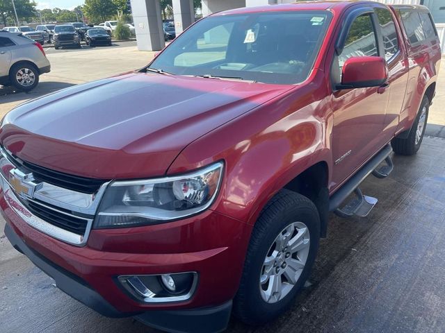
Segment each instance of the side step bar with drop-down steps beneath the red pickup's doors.
[{"label": "side step bar with drop-down steps beneath the red pickup's doors", "polygon": [[[374,157],[371,158],[362,169],[359,169],[357,173],[355,173],[354,176],[352,176],[341,188],[339,188],[329,200],[329,211],[335,212],[337,215],[341,217],[349,217],[353,215],[358,216],[366,216],[369,211],[371,211],[372,207],[377,203],[377,200],[367,200],[367,199],[373,199],[371,197],[363,196],[362,191],[360,191],[357,187],[359,187],[360,183],[363,182],[363,180],[368,177],[377,167],[380,163],[383,161],[387,162],[387,168],[384,170],[379,170],[375,173],[378,173],[379,178],[384,178],[392,171],[392,162],[391,157],[389,155],[392,153],[392,148],[389,144],[387,144],[384,148],[382,148],[381,151],[379,151]],[[353,205],[347,205],[348,209],[346,210],[339,210],[341,203],[348,198],[348,196],[355,191],[355,194],[357,195],[357,198],[359,200],[355,200],[355,204]],[[362,207],[362,205],[367,205],[366,208]],[[370,207],[370,208],[369,208]]]}]

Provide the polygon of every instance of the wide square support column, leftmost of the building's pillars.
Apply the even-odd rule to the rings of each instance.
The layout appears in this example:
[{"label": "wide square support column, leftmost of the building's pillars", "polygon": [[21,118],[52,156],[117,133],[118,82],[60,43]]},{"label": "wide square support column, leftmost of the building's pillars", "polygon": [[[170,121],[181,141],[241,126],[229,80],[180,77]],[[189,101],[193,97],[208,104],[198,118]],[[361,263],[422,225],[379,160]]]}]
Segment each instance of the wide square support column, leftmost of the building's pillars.
[{"label": "wide square support column, leftmost of the building's pillars", "polygon": [[136,41],[139,51],[159,51],[164,48],[161,6],[159,0],[131,0]]}]

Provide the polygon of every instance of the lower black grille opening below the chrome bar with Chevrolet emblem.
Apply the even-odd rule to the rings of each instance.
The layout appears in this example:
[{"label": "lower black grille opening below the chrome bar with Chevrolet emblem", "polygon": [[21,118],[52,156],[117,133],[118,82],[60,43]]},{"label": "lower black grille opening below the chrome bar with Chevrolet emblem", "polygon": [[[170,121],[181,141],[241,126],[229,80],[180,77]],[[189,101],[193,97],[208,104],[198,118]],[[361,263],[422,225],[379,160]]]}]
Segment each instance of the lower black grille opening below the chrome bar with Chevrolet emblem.
[{"label": "lower black grille opening below the chrome bar with Chevrolet emblem", "polygon": [[57,207],[57,210],[51,210],[49,206],[40,205],[35,201],[30,200],[22,200],[22,203],[28,208],[28,210],[38,216],[40,219],[51,223],[52,225],[56,225],[58,228],[62,228],[64,230],[73,232],[74,234],[83,235],[86,232],[86,227],[88,225],[88,221],[86,219],[82,219],[80,217],[76,217],[72,214],[63,214],[60,212],[60,208]]}]

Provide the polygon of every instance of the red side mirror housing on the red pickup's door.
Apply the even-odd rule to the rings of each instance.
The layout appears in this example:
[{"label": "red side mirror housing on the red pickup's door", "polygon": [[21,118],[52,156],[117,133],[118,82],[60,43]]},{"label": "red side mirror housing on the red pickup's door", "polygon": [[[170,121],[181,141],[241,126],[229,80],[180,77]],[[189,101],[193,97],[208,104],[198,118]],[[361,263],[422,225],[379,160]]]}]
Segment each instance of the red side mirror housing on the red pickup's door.
[{"label": "red side mirror housing on the red pickup's door", "polygon": [[379,87],[388,79],[388,67],[382,57],[352,57],[346,60],[337,89]]}]

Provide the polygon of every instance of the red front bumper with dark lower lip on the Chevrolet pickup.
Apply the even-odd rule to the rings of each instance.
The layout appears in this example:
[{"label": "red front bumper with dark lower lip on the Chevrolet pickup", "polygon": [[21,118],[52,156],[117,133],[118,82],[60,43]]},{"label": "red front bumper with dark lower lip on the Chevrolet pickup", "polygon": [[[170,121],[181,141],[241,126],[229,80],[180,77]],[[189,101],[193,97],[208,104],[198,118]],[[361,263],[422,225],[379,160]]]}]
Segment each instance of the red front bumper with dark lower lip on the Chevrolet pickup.
[{"label": "red front bumper with dark lower lip on the Chevrolet pickup", "polygon": [[[159,225],[93,229],[86,246],[77,247],[35,230],[9,205],[0,190],[6,235],[13,246],[53,277],[65,293],[99,313],[137,315],[141,321],[170,332],[198,332],[179,328],[188,327],[184,321],[199,322],[201,314],[202,320],[211,318],[215,322],[212,332],[219,332],[227,324],[229,302],[238,289],[251,226],[208,210]],[[181,302],[141,303],[117,282],[120,275],[186,271],[197,272],[199,283],[193,296]],[[182,326],[167,325],[176,325],[179,319],[156,322],[165,316],[179,316]]]}]

